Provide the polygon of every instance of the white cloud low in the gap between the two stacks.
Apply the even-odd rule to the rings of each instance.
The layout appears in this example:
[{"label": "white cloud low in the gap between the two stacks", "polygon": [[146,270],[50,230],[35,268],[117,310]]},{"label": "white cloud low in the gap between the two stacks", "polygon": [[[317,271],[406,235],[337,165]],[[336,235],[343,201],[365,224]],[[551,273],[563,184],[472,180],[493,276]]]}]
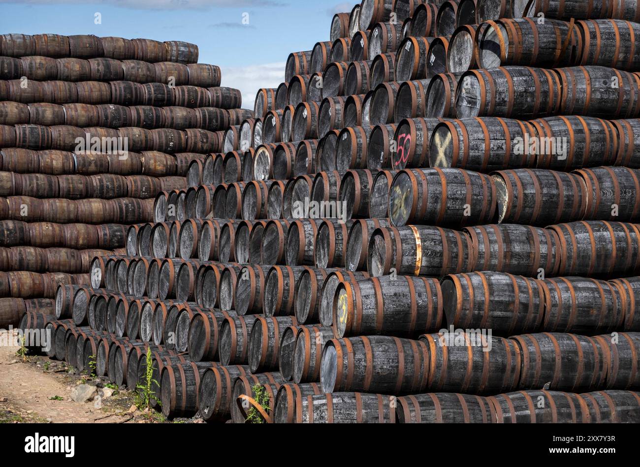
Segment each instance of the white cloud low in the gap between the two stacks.
[{"label": "white cloud low in the gap between the two stacks", "polygon": [[253,110],[258,89],[280,86],[280,83],[284,81],[284,67],[284,62],[250,66],[221,66],[221,86],[240,89],[243,109]]}]

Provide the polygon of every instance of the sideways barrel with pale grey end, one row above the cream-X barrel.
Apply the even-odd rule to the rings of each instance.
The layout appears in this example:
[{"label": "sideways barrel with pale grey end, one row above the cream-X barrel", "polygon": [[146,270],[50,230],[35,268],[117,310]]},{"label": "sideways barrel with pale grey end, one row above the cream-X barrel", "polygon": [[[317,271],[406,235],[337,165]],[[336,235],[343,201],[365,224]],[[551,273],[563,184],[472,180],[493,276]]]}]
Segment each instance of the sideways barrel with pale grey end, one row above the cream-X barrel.
[{"label": "sideways barrel with pale grey end, one row above the cream-X barrel", "polygon": [[[460,77],[459,83],[462,86],[456,89],[458,118],[495,116],[531,119],[558,112],[577,113],[561,109],[561,103],[572,100],[566,90],[569,83],[565,84],[558,74],[542,68],[501,66],[492,70],[469,70]],[[523,100],[520,96],[524,95],[535,95],[536,99]]]}]

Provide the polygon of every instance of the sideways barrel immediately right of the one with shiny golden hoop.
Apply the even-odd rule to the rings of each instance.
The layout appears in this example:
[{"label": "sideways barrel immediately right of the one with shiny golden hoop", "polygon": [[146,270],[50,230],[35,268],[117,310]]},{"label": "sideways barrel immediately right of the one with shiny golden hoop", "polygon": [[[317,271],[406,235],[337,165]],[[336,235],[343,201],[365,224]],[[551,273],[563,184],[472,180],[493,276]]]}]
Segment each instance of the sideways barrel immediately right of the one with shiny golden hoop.
[{"label": "sideways barrel immediately right of the one with shiny golden hoop", "polygon": [[465,227],[474,251],[474,271],[551,277],[560,267],[557,235],[539,227],[502,224]]}]

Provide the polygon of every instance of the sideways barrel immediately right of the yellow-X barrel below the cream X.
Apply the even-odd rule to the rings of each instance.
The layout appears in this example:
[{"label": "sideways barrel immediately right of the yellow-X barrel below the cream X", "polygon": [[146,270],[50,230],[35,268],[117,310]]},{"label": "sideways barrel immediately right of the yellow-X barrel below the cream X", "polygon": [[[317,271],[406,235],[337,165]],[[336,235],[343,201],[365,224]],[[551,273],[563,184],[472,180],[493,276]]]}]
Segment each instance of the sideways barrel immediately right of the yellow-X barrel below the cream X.
[{"label": "sideways barrel immediately right of the yellow-X barrel below the cream X", "polygon": [[499,222],[548,226],[584,217],[589,192],[577,174],[516,169],[495,172],[493,180]]}]

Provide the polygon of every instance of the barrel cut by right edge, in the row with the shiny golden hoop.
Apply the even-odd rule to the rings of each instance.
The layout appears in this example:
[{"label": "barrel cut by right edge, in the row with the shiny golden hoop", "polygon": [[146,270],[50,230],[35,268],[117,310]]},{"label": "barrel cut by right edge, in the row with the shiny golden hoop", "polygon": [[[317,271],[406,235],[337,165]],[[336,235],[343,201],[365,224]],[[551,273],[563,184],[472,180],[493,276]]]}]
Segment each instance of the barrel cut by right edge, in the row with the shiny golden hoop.
[{"label": "barrel cut by right edge, in the row with the shiny golden hoop", "polygon": [[560,239],[561,276],[632,275],[640,267],[635,224],[592,220],[549,228]]}]

